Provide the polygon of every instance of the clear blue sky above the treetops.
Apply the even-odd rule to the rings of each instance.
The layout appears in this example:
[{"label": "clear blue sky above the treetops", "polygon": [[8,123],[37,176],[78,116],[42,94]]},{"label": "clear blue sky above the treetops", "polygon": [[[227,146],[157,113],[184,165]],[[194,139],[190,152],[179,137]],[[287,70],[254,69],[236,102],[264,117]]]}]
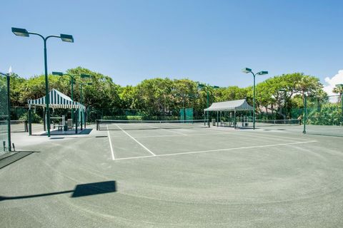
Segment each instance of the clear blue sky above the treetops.
[{"label": "clear blue sky above the treetops", "polygon": [[[51,39],[48,67],[82,66],[122,86],[145,78],[190,78],[217,86],[249,86],[244,67],[269,76],[304,72],[332,78],[343,68],[343,1],[1,1],[0,71],[44,72],[39,37]],[[343,78],[343,77],[342,77]]]}]

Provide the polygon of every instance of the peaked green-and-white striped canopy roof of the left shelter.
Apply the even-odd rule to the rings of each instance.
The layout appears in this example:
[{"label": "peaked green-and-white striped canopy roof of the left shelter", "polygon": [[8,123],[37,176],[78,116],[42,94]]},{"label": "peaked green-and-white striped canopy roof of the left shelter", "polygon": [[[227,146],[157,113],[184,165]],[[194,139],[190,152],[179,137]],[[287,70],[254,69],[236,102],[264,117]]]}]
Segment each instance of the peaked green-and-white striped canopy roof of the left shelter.
[{"label": "peaked green-and-white striped canopy roof of the left shelter", "polygon": [[[27,103],[29,103],[30,108],[31,105],[46,107],[45,96],[36,100],[28,100]],[[59,92],[59,90],[52,89],[49,93],[49,108],[85,109],[86,107],[81,103],[71,100],[69,96]]]}]

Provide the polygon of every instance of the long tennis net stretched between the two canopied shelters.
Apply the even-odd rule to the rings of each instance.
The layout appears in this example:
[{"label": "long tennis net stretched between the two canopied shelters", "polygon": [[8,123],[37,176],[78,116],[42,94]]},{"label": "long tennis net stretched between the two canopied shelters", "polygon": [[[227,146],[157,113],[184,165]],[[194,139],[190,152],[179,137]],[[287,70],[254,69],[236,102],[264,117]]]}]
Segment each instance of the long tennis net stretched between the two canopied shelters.
[{"label": "long tennis net stretched between the two canopied shelters", "polygon": [[96,120],[96,130],[209,128],[208,120]]}]

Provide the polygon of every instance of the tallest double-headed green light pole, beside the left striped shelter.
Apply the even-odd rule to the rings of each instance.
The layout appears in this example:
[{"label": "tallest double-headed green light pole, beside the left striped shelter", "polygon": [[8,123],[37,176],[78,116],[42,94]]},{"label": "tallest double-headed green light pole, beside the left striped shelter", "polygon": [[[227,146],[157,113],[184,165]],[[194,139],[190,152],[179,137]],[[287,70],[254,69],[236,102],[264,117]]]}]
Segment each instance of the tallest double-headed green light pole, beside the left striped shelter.
[{"label": "tallest double-headed green light pole, beside the left striped shelter", "polygon": [[69,43],[74,43],[74,38],[71,35],[66,35],[66,34],[60,34],[60,36],[42,36],[39,33],[32,33],[27,31],[25,28],[13,28],[12,27],[12,32],[16,36],[24,36],[24,37],[29,37],[29,34],[31,35],[36,35],[39,36],[43,39],[44,41],[44,68],[45,68],[45,103],[46,103],[46,125],[47,125],[47,133],[48,137],[50,137],[50,110],[49,110],[49,80],[48,80],[48,63],[47,63],[47,55],[46,55],[46,41],[49,38],[61,38],[62,41],[64,42],[69,42]]}]

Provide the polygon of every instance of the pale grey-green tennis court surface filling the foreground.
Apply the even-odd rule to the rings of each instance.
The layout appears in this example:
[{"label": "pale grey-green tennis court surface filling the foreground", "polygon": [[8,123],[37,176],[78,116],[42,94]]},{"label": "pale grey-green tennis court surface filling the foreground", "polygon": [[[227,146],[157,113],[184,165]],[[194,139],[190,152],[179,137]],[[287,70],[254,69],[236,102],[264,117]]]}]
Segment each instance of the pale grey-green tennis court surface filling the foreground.
[{"label": "pale grey-green tennis court surface filling the foreground", "polygon": [[122,129],[16,133],[0,227],[343,227],[342,138]]}]

